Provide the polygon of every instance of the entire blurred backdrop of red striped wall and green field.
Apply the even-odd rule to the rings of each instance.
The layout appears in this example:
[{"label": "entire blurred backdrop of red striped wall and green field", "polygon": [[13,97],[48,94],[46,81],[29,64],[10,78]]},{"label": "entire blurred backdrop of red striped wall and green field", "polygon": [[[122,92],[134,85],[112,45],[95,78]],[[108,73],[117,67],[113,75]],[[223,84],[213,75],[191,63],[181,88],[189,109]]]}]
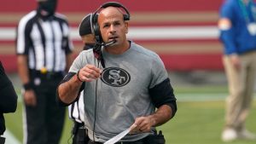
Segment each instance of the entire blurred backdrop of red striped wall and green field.
[{"label": "entire blurred backdrop of red striped wall and green field", "polygon": [[[223,0],[116,0],[131,12],[128,37],[152,49],[164,61],[177,96],[175,118],[159,129],[166,144],[218,144],[224,124],[227,94],[218,41],[218,9]],[[57,11],[66,14],[78,54],[83,48],[78,26],[84,15],[94,12],[106,0],[59,0]],[[20,18],[36,9],[36,0],[8,0],[0,4],[0,60],[20,95],[15,56],[15,27]],[[22,141],[22,99],[15,113],[6,114],[7,144]],[[255,101],[248,118],[256,132]],[[66,120],[61,144],[68,143],[72,123]],[[234,141],[233,143],[254,143]]]}]

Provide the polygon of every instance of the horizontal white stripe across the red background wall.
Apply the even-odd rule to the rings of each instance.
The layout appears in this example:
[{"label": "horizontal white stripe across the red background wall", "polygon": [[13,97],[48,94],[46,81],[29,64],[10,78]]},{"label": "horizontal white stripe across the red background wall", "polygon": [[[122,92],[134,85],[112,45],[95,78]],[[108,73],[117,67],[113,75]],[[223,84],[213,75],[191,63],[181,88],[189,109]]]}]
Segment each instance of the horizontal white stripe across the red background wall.
[{"label": "horizontal white stripe across the red background wall", "polygon": [[[78,28],[71,28],[73,40],[80,40]],[[209,39],[218,37],[217,26],[131,26],[127,37],[132,40]],[[15,40],[15,27],[0,27],[0,40]]]}]

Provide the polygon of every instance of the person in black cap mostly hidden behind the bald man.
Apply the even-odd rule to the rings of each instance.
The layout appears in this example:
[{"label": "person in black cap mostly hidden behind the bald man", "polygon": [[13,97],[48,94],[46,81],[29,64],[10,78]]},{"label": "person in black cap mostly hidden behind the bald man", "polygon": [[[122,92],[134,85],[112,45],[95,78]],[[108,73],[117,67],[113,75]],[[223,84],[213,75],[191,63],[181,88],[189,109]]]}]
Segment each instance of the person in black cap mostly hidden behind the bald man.
[{"label": "person in black cap mostly hidden behind the bald man", "polygon": [[[79,25],[79,36],[84,43],[84,50],[93,49],[95,37],[92,34],[92,14],[87,14]],[[67,74],[68,76],[68,74]],[[84,129],[84,90],[79,93],[78,100],[68,107],[69,118],[73,119],[73,144],[84,144],[89,141]]]}]

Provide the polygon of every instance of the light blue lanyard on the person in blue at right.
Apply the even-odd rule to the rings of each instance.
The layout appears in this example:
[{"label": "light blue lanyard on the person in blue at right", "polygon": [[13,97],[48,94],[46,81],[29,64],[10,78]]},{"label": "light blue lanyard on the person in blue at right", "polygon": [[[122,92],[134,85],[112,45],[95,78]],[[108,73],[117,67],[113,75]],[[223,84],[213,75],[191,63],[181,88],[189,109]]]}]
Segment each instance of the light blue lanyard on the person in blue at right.
[{"label": "light blue lanyard on the person in blue at right", "polygon": [[248,11],[247,11],[247,6],[250,7],[249,9],[251,10],[252,15],[253,15],[253,21],[256,21],[256,15],[255,15],[256,8],[255,8],[252,0],[248,0],[247,6],[246,6],[245,3],[243,3],[243,0],[239,0],[239,5],[241,7],[242,14],[243,14],[247,24],[250,23],[249,14],[248,14]]}]

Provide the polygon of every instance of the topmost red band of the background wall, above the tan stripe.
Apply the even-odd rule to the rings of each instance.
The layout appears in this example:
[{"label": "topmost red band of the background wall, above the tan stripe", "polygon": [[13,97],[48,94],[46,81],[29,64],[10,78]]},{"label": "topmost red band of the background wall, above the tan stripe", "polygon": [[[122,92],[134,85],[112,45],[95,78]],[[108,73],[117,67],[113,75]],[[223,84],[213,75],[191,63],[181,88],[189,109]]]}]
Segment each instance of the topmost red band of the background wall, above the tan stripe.
[{"label": "topmost red band of the background wall, above the tan stripe", "polygon": [[[223,0],[115,0],[131,11],[208,11],[218,10]],[[94,11],[109,0],[59,0],[58,10],[67,12]],[[113,1],[110,1],[113,2]],[[36,0],[8,0],[0,12],[26,12],[37,6]]]}]

